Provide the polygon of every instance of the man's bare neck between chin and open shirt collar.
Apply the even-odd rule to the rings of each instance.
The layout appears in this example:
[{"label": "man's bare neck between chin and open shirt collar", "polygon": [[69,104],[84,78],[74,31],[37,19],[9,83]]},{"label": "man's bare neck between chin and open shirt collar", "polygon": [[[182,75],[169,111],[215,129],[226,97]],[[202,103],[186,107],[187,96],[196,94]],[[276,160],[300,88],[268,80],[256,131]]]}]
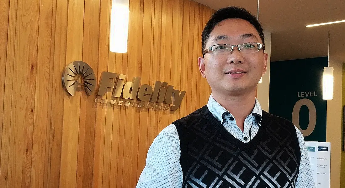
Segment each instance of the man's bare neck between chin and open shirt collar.
[{"label": "man's bare neck between chin and open shirt collar", "polygon": [[238,96],[212,92],[212,97],[234,116],[237,126],[243,131],[244,120],[252,113],[255,106],[255,90]]}]

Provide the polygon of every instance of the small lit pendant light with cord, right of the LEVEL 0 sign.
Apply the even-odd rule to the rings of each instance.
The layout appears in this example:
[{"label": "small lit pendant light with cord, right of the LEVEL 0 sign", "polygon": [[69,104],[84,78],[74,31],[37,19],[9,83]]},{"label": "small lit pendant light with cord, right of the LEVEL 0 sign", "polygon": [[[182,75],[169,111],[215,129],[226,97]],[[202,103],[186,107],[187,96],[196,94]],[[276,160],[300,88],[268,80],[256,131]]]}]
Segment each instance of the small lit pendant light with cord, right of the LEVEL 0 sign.
[{"label": "small lit pendant light with cord, right of the LEVEL 0 sign", "polygon": [[322,98],[324,100],[333,99],[333,67],[329,66],[329,31],[328,31],[328,66],[324,67],[322,78]]}]

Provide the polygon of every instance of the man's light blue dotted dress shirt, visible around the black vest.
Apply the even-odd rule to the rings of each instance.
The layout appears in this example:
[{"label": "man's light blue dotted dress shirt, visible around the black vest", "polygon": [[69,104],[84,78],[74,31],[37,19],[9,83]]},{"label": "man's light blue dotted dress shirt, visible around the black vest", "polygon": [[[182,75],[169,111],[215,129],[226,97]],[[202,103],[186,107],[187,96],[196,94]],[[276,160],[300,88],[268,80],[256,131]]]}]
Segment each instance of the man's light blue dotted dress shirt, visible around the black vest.
[{"label": "man's light blue dotted dress shirt, visible around the black vest", "polygon": [[[220,123],[223,123],[229,133],[244,143],[248,143],[250,137],[253,139],[260,128],[258,121],[255,121],[255,116],[260,115],[262,117],[262,109],[257,99],[255,99],[253,112],[244,121],[243,132],[238,128],[236,119],[231,113],[228,113],[223,106],[214,100],[212,95],[208,100],[207,107],[214,117]],[[315,188],[303,134],[298,128],[295,127],[295,129],[301,151],[296,188]],[[140,175],[137,188],[181,188],[183,173],[180,165],[180,155],[181,148],[178,132],[176,126],[170,124],[158,134],[150,146],[146,166]]]}]

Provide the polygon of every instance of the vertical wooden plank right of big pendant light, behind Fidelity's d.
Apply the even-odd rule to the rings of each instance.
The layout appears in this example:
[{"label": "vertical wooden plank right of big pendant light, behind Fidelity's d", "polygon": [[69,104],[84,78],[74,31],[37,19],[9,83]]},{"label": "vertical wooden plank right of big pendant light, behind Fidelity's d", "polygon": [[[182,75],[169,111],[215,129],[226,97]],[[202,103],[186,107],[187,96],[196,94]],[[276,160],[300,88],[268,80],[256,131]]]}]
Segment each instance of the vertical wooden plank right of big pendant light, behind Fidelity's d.
[{"label": "vertical wooden plank right of big pendant light, behind Fidelity's d", "polygon": [[[129,32],[128,32],[128,60],[127,81],[141,74],[142,59],[142,20],[144,0],[129,2]],[[133,100],[134,102],[135,100]],[[136,185],[138,164],[140,109],[129,107],[126,109],[124,168],[122,170],[122,187],[132,188]]]}]

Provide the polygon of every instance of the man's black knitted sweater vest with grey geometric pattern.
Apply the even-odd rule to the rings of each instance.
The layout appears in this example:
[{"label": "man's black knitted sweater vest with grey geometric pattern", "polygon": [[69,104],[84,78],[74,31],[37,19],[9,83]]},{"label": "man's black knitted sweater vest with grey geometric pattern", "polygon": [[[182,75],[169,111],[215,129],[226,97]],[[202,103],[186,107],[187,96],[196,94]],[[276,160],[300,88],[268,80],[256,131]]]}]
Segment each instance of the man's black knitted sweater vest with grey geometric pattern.
[{"label": "man's black knitted sweater vest with grey geometric pattern", "polygon": [[300,149],[294,125],[262,111],[248,143],[231,135],[207,106],[174,122],[181,144],[182,188],[295,188]]}]

